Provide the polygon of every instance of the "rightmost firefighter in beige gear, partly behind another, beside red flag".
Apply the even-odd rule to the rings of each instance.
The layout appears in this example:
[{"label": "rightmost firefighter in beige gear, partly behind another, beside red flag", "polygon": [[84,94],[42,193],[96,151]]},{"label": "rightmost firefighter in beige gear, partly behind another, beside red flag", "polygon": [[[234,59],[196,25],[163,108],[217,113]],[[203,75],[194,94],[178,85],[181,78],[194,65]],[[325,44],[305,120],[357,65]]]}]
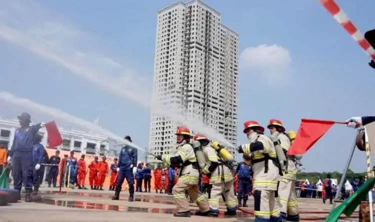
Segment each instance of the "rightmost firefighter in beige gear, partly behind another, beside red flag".
[{"label": "rightmost firefighter in beige gear, partly behind another, beside red flag", "polygon": [[286,152],[290,147],[290,139],[285,133],[285,128],[278,119],[270,119],[267,125],[271,133],[273,144],[279,145],[283,150],[283,156],[277,153],[279,161],[284,161],[284,171],[279,179],[276,200],[280,207],[281,221],[299,221],[298,202],[295,191],[295,179],[297,174],[297,163],[294,156],[287,155]]}]

